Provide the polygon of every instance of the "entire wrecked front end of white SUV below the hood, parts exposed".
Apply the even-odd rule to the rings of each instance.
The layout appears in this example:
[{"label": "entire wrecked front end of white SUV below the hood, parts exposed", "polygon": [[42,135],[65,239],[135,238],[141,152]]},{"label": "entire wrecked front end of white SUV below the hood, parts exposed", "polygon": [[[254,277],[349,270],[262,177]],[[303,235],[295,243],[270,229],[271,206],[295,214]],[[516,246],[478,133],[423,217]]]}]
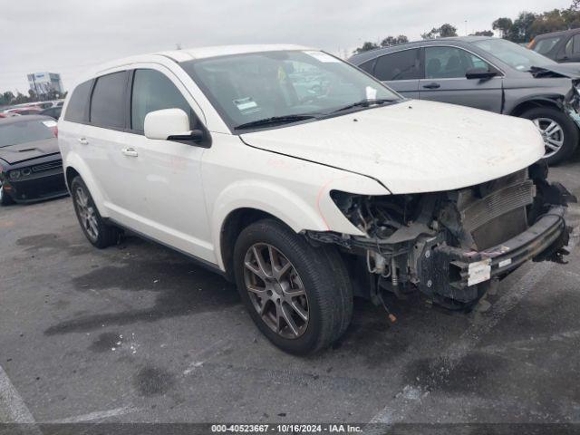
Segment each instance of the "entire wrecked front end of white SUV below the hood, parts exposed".
[{"label": "entire wrecked front end of white SUV below the hood, parts exposed", "polygon": [[341,247],[358,293],[380,303],[380,290],[419,289],[450,309],[477,303],[489,283],[525,261],[567,254],[565,207],[575,198],[546,181],[547,167],[465,189],[368,197],[331,192],[365,236],[307,231],[315,243]]}]

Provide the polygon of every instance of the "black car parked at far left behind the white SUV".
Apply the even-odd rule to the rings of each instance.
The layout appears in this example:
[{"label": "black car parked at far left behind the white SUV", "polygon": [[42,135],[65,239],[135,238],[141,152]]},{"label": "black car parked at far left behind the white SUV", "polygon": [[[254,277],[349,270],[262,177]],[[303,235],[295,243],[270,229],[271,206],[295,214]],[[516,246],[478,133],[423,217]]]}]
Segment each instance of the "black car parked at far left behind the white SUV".
[{"label": "black car parked at far left behind the white SUV", "polygon": [[0,120],[0,203],[66,195],[56,121],[28,115]]}]

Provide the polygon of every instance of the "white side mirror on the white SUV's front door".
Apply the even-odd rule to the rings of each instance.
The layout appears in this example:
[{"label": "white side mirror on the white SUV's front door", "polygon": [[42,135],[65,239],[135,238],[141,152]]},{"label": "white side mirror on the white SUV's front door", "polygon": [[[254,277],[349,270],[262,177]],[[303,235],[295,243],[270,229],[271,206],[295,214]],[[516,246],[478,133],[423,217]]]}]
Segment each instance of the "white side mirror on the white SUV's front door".
[{"label": "white side mirror on the white SUV's front door", "polygon": [[150,111],[145,115],[145,137],[159,140],[203,140],[203,131],[189,130],[189,117],[181,109]]}]

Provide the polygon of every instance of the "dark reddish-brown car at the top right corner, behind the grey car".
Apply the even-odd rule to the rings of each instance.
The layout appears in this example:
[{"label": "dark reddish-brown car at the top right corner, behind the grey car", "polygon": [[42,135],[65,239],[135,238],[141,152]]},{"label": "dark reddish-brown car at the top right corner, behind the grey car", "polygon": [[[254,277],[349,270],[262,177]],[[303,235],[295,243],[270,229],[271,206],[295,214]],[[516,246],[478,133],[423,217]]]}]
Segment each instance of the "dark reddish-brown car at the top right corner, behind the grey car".
[{"label": "dark reddish-brown car at the top right corner, behind the grey car", "polygon": [[527,48],[558,62],[580,62],[580,29],[539,34]]}]

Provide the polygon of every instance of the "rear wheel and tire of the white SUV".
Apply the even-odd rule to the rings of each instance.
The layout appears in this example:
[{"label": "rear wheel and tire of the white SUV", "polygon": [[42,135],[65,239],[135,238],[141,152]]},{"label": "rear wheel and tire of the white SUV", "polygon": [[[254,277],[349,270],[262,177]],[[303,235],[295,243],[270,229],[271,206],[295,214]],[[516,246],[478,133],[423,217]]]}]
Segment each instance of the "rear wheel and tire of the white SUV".
[{"label": "rear wheel and tire of the white SUV", "polygon": [[71,183],[71,196],[73,197],[76,218],[89,242],[99,249],[116,245],[121,231],[117,227],[105,224],[99,210],[94,205],[91,192],[79,176],[75,177]]}]

